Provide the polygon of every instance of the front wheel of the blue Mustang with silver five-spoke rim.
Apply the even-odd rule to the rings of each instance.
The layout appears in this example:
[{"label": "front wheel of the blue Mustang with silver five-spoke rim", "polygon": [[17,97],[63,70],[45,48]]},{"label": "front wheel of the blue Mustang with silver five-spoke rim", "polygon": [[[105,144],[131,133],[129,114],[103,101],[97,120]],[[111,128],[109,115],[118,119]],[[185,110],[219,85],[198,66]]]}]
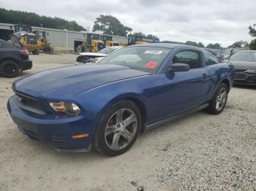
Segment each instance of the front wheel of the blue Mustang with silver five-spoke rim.
[{"label": "front wheel of the blue Mustang with silver five-spoke rim", "polygon": [[103,114],[93,148],[104,155],[121,155],[135,143],[140,127],[138,106],[132,101],[118,101]]}]

